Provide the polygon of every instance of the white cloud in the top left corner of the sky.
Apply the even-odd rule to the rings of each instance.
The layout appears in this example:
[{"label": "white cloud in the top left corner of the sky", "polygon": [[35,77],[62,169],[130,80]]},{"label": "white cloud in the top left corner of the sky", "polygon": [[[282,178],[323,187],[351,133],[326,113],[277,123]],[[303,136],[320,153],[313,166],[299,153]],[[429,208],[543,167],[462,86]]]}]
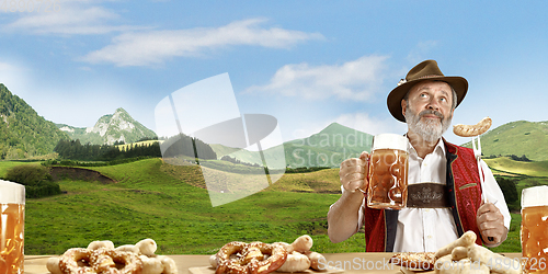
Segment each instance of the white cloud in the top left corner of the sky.
[{"label": "white cloud in the top left corner of the sky", "polygon": [[[43,1],[44,2],[44,1]],[[53,9],[45,2],[41,9]],[[36,5],[34,9],[38,9]],[[105,34],[111,32],[142,30],[142,26],[114,25],[119,15],[103,7],[84,7],[82,2],[60,2],[59,11],[20,12],[21,16],[2,27],[4,32],[30,32],[34,34]]]}]

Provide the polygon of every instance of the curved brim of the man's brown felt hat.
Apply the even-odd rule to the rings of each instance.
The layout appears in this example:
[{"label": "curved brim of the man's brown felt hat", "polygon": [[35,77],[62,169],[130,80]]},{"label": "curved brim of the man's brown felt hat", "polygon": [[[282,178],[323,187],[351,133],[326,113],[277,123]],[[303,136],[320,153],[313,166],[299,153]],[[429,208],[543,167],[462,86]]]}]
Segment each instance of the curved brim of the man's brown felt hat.
[{"label": "curved brim of the man's brown felt hat", "polygon": [[468,91],[468,81],[463,77],[429,77],[423,79],[416,79],[412,81],[408,81],[401,85],[396,87],[387,98],[388,110],[390,114],[398,121],[406,123],[406,117],[403,116],[401,110],[401,100],[406,96],[408,91],[415,85],[416,83],[425,80],[431,81],[443,81],[448,83],[455,92],[457,93],[457,106],[463,102],[463,99],[466,96],[466,92]]}]

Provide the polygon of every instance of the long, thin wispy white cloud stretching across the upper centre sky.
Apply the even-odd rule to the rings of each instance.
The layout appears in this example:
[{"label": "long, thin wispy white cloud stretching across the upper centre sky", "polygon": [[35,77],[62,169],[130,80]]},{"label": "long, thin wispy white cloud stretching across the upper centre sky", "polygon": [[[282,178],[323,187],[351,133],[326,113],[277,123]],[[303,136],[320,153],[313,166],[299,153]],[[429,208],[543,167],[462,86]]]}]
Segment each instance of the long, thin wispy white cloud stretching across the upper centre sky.
[{"label": "long, thin wispy white cloud stretching across the upper centre sky", "polygon": [[151,66],[172,57],[203,55],[206,50],[235,45],[289,48],[309,39],[323,39],[319,33],[278,27],[263,28],[263,19],[236,21],[220,27],[124,33],[112,44],[89,53],[82,60],[116,66]]}]

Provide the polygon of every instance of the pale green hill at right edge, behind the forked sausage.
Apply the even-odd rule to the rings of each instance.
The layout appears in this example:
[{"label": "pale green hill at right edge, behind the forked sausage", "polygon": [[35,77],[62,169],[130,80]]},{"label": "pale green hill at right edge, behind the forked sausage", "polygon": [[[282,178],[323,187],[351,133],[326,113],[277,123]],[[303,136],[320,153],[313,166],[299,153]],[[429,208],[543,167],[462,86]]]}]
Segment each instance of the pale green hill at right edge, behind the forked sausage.
[{"label": "pale green hill at right edge, behind the forked sausage", "polygon": [[[471,142],[464,145],[471,147]],[[517,121],[481,135],[481,152],[490,156],[526,156],[529,160],[548,160],[548,122]]]}]

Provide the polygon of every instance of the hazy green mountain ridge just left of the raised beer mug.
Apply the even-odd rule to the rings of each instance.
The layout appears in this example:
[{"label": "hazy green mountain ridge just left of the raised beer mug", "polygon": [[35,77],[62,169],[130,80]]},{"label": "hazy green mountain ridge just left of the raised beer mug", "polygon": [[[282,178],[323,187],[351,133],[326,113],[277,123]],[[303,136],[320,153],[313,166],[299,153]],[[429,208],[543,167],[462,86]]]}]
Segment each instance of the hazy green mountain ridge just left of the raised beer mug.
[{"label": "hazy green mountain ridge just left of the raised beer mug", "polygon": [[[362,133],[338,123],[332,123],[318,134],[302,139],[286,141],[283,145],[264,150],[266,159],[275,157],[284,146],[286,167],[331,167],[338,168],[341,162],[351,157],[357,157],[364,150],[369,151],[373,135]],[[259,152],[244,149],[227,148],[221,145],[212,145],[220,159],[229,155],[242,162],[262,165]]]}]

